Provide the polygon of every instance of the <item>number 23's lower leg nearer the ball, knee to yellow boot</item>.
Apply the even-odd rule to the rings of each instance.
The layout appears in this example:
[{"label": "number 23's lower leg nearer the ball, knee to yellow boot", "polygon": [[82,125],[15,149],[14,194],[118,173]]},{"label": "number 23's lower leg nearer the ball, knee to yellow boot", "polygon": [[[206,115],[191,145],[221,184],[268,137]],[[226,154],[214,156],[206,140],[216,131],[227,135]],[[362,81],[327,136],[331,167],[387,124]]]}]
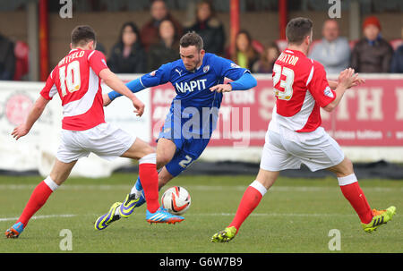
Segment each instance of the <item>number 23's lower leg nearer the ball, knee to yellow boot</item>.
[{"label": "number 23's lower leg nearer the ball, knee to yellow boot", "polygon": [[[236,216],[223,231],[215,233],[211,237],[212,242],[227,242],[234,239],[239,228],[244,223],[244,220],[253,212],[254,208],[259,205],[262,197],[268,191],[270,186],[276,182],[279,172],[270,172],[263,170],[259,171],[256,180],[253,181],[246,191],[236,210]],[[264,183],[264,185],[262,184]]]}]

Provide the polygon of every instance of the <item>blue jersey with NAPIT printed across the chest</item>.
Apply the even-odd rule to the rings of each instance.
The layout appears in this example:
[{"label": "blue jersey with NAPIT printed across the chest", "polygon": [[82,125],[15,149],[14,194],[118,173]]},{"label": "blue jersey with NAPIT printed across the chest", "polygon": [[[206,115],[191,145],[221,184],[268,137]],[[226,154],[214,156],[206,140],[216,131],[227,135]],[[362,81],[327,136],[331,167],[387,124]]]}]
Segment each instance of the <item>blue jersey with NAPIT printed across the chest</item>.
[{"label": "blue jersey with NAPIT printed across the chest", "polygon": [[[154,72],[144,74],[140,80],[144,88],[170,82],[176,90],[176,97],[172,101],[170,113],[174,118],[174,105],[177,105],[177,102],[180,101],[181,110],[177,114],[181,114],[181,116],[176,115],[176,117],[180,117],[182,124],[184,124],[187,121],[182,115],[185,108],[195,108],[200,113],[200,116],[203,114],[203,108],[219,108],[222,93],[211,92],[210,88],[217,84],[222,84],[226,77],[230,80],[238,80],[244,72],[249,71],[226,58],[206,53],[201,66],[193,72],[187,71],[183,61],[178,59],[172,63],[161,65]],[[218,114],[218,110],[216,112]],[[201,127],[206,127],[205,123],[201,123]],[[210,132],[213,129],[210,125]],[[203,132],[202,129],[200,132]]]}]

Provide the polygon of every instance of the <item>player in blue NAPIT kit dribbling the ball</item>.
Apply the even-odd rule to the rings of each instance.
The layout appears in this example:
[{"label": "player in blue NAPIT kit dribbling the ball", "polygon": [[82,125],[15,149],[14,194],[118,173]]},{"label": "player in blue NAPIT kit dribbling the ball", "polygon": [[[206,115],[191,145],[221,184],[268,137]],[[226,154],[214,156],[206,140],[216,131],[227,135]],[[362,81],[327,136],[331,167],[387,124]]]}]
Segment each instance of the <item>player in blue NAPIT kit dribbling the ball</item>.
[{"label": "player in blue NAPIT kit dribbling the ball", "polygon": [[[252,89],[257,84],[247,69],[206,53],[202,38],[195,32],[186,33],[180,39],[179,55],[181,59],[163,64],[157,71],[126,84],[133,93],[167,82],[176,90],[157,143],[159,189],[201,156],[216,128],[223,92]],[[224,78],[232,81],[224,84]],[[119,96],[116,91],[104,94],[104,106]],[[104,215],[110,218],[103,224],[95,224],[95,228],[103,230],[121,217],[130,216],[144,202],[138,178],[124,202],[112,205]]]}]

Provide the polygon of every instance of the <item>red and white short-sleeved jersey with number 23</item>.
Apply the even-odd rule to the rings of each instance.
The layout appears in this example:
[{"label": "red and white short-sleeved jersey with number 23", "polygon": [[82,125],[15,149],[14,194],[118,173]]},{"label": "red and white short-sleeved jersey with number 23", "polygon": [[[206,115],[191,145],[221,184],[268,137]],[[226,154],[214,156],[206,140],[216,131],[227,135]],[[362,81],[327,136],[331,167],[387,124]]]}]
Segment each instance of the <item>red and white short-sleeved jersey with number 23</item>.
[{"label": "red and white short-sleeved jersey with number 23", "polygon": [[272,122],[292,131],[316,130],[322,123],[320,107],[336,98],[322,64],[286,49],[275,62],[272,76],[276,96]]}]

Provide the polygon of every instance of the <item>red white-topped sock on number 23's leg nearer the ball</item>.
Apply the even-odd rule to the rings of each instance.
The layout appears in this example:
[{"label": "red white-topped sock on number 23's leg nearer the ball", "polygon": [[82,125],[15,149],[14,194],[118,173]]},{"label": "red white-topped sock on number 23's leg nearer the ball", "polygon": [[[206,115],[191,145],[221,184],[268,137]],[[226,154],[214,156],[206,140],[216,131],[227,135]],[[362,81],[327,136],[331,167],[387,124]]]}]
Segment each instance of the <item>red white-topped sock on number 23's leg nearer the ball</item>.
[{"label": "red white-topped sock on number 23's leg nearer the ball", "polygon": [[264,188],[260,182],[252,182],[246,191],[244,191],[244,196],[242,196],[241,202],[236,210],[236,216],[228,227],[235,226],[237,233],[246,217],[248,217],[253,212],[254,208],[259,205],[266,191],[266,188]]}]

